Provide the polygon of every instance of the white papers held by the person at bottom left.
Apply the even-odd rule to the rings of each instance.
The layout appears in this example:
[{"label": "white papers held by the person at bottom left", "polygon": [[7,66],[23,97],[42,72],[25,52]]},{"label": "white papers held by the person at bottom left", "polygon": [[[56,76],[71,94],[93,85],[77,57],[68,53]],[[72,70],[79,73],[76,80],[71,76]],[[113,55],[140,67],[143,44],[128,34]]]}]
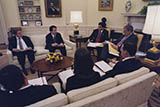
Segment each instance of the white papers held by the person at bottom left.
[{"label": "white papers held by the person at bottom left", "polygon": [[28,80],[28,83],[30,85],[47,85],[48,84],[46,77],[40,77],[40,78]]}]

